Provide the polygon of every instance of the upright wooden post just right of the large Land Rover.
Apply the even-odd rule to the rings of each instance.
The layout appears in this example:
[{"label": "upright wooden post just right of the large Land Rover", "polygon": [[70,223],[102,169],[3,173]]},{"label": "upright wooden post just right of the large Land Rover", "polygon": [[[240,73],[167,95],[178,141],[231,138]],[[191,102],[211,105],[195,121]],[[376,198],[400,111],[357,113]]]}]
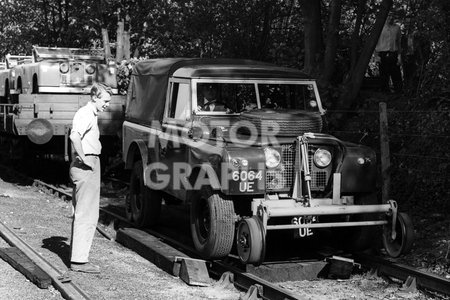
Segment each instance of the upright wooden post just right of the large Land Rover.
[{"label": "upright wooden post just right of the large Land Rover", "polygon": [[389,200],[391,184],[391,160],[389,155],[389,136],[386,103],[380,102],[380,151],[381,151],[381,199],[383,203]]}]

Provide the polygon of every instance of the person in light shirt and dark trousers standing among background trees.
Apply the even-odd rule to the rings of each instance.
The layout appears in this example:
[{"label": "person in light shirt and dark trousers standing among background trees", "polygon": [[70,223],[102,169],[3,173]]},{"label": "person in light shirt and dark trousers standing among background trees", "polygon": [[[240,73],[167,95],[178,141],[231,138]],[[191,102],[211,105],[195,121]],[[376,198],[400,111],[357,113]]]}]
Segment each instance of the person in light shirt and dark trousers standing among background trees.
[{"label": "person in light shirt and dark trousers standing among background trees", "polygon": [[375,47],[375,52],[380,60],[382,89],[386,92],[390,92],[389,79],[392,79],[395,92],[401,92],[403,88],[400,72],[400,65],[402,64],[400,55],[401,37],[400,26],[395,24],[392,15],[389,15]]}]

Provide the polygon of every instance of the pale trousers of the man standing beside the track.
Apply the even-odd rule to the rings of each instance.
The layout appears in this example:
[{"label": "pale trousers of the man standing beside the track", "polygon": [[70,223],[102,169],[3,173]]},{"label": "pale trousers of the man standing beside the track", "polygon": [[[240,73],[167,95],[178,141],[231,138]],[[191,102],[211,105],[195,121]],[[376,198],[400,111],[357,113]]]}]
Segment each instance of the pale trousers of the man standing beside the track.
[{"label": "pale trousers of the man standing beside the track", "polygon": [[71,236],[71,262],[89,261],[89,250],[97,227],[100,206],[100,159],[86,156],[95,167],[91,169],[79,159],[70,165],[70,178],[74,183],[74,208]]}]

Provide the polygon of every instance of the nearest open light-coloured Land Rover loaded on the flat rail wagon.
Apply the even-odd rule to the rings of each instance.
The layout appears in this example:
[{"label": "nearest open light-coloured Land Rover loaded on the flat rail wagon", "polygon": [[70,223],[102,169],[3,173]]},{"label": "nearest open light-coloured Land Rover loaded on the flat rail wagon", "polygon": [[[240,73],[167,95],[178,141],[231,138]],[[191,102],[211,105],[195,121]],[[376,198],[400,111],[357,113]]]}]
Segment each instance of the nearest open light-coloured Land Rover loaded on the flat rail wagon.
[{"label": "nearest open light-coloured Land Rover loaded on the flat rail wagon", "polygon": [[12,94],[88,93],[94,82],[104,82],[117,94],[117,67],[103,49],[33,46],[32,60],[13,69]]}]

